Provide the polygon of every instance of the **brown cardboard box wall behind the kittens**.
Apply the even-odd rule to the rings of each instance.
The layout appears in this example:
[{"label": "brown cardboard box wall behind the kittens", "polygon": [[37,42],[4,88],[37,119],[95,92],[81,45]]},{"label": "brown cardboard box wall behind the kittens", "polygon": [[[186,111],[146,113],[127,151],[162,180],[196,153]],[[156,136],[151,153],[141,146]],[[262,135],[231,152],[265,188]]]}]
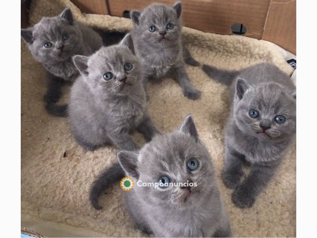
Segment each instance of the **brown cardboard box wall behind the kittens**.
[{"label": "brown cardboard box wall behind the kittens", "polygon": [[[125,11],[176,0],[71,0],[82,12],[123,17]],[[182,0],[184,26],[217,34],[232,34],[242,23],[245,36],[267,40],[296,54],[296,0]]]}]

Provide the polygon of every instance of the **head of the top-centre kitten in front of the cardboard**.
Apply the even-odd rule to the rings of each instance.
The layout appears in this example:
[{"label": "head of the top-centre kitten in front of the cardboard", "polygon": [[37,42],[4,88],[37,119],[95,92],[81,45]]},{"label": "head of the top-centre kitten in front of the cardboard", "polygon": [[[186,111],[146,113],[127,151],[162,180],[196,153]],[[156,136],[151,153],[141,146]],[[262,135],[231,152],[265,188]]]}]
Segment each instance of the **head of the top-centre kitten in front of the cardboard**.
[{"label": "head of the top-centre kitten in front of the cardboard", "polygon": [[152,4],[140,13],[137,19],[132,17],[140,42],[160,46],[178,41],[182,28],[181,3],[178,4],[178,9],[175,5],[168,7],[163,4]]}]

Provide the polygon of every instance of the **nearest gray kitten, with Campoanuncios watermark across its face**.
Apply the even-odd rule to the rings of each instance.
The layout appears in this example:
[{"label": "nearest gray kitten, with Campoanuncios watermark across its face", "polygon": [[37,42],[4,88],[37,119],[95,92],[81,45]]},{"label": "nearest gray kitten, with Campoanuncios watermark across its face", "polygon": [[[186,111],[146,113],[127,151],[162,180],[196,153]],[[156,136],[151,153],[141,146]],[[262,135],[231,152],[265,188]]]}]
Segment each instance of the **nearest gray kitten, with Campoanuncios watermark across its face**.
[{"label": "nearest gray kitten, with Campoanuncios watermark across its face", "polygon": [[[120,151],[117,158],[92,184],[94,208],[101,208],[103,189],[127,175],[134,186],[123,192],[125,207],[144,232],[156,237],[232,236],[210,155],[191,115],[177,131],[155,136],[140,151]],[[157,187],[138,186],[143,183]]]}]

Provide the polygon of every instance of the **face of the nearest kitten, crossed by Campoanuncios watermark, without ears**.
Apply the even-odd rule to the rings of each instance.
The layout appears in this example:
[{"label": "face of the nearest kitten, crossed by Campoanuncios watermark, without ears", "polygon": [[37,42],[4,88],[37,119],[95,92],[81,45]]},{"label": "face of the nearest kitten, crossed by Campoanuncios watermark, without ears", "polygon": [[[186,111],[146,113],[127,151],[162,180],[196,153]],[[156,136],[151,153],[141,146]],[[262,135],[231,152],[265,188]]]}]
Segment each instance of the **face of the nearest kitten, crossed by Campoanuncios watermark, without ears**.
[{"label": "face of the nearest kitten, crossed by Campoanuncios watermark, without ears", "polygon": [[[188,163],[194,168],[189,169]],[[200,204],[212,191],[213,169],[208,152],[200,142],[183,133],[157,136],[139,155],[139,180],[142,182],[197,183],[197,187],[140,187],[143,199],[165,207],[186,208]]]}]

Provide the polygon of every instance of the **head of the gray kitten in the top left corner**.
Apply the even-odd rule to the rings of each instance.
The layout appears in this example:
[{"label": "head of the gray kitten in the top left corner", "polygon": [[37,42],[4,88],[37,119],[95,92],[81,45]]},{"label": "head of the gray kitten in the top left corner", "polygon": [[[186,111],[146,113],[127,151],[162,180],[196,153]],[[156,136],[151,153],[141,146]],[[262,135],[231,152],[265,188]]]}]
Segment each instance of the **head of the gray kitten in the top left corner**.
[{"label": "head of the gray kitten in the top left corner", "polygon": [[[30,31],[31,39],[23,36],[23,30]],[[34,58],[41,63],[62,62],[80,53],[82,35],[73,24],[69,9],[57,17],[43,17],[33,28],[23,30],[23,39],[28,43]]]}]

